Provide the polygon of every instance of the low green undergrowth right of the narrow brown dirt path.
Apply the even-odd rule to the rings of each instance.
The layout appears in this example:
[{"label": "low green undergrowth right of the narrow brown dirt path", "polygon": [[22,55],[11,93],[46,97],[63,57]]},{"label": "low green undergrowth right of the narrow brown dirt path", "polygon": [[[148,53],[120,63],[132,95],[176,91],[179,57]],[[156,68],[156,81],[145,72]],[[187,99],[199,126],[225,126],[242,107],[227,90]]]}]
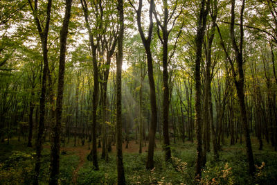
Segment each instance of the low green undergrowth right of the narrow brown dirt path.
[{"label": "low green undergrowth right of the narrow brown dirt path", "polygon": [[[159,144],[157,145],[159,147]],[[125,178],[127,184],[195,184],[196,148],[193,143],[171,145],[172,161],[164,161],[164,152],[155,151],[155,168],[146,170],[147,154],[124,153]],[[264,150],[258,150],[253,139],[256,174],[249,176],[245,146],[223,146],[220,159],[213,159],[208,153],[206,167],[202,173],[202,184],[277,184],[277,152],[265,143]],[[78,173],[78,184],[116,184],[116,155],[109,156],[109,162],[99,160],[100,170],[93,170],[86,161]]]}]

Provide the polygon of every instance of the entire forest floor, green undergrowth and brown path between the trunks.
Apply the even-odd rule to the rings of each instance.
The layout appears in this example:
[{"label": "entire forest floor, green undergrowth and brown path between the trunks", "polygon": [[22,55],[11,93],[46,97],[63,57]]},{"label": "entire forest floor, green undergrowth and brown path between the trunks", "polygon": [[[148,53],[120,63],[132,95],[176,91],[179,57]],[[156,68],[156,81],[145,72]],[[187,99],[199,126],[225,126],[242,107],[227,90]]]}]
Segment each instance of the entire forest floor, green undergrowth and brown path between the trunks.
[{"label": "entire forest floor, green undergrowth and brown path between the trunks", "polygon": [[[225,145],[220,151],[220,159],[213,159],[213,151],[207,155],[207,164],[202,173],[202,184],[277,184],[277,152],[264,142],[263,150],[258,150],[258,140],[251,138],[256,163],[256,174],[249,177],[244,142],[235,146]],[[145,170],[147,147],[139,154],[139,143],[129,141],[128,148],[123,143],[123,161],[127,184],[195,184],[195,143],[186,141],[173,143],[172,161],[164,161],[162,142],[156,140],[154,152],[155,168]],[[63,144],[62,144],[63,146]],[[91,148],[91,145],[90,145]],[[89,143],[73,146],[73,139],[61,148],[60,184],[116,184],[116,150],[112,146],[109,161],[101,159],[98,148],[99,170],[87,160]],[[0,143],[0,184],[31,184],[35,164],[35,148],[26,148],[26,141],[10,140],[10,144]],[[47,184],[50,165],[50,143],[46,142],[42,151],[40,182]]]}]

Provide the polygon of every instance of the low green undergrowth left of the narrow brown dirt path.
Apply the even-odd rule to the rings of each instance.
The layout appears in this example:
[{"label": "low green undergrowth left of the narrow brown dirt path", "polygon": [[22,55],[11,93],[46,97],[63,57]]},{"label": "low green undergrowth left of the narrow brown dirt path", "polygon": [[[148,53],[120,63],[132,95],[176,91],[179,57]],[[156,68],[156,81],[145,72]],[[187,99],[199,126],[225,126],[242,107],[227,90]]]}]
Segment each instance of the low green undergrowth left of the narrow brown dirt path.
[{"label": "low green undergrowth left of the narrow brown dirt path", "polygon": [[[35,166],[35,150],[27,148],[26,143],[16,139],[10,144],[0,144],[0,184],[32,184]],[[73,170],[79,157],[73,152],[60,155],[60,184],[70,184]],[[40,184],[48,184],[50,150],[42,150],[42,166],[39,175]]]}]

